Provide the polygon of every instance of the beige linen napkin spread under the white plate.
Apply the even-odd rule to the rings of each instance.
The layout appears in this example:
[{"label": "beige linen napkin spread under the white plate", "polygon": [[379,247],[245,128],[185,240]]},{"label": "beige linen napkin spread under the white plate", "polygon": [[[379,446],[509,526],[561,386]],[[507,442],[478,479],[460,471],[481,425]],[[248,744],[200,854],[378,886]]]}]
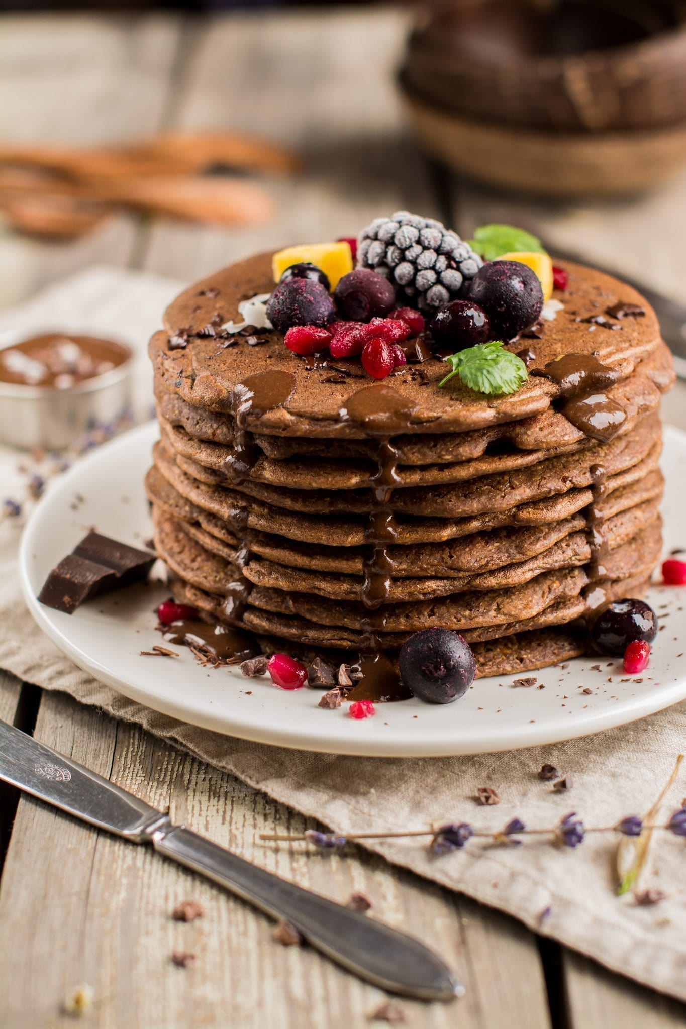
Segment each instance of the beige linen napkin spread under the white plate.
[{"label": "beige linen napkin spread under the white plate", "polygon": [[[127,278],[138,291],[139,304],[145,293],[141,281],[131,273],[117,272],[115,278],[118,298],[131,312]],[[77,289],[74,299],[81,295],[83,300],[83,284],[76,285],[81,293]],[[159,280],[156,286],[159,290]],[[61,288],[73,292],[73,287],[72,282]],[[149,314],[147,307],[146,311]],[[6,454],[4,461],[0,455],[0,474],[3,465],[9,467]],[[7,481],[4,475],[3,481]],[[422,828],[433,820],[466,821],[496,830],[515,815],[532,828],[547,827],[571,811],[587,825],[611,825],[625,815],[645,814],[677,753],[686,748],[686,704],[585,739],[474,757],[309,754],[196,729],[120,697],[61,654],[22,603],[15,574],[19,532],[14,520],[0,526],[0,667],[136,722],[337,832]],[[571,793],[553,793],[548,783],[541,782],[538,771],[546,762],[573,777]],[[501,803],[477,805],[479,786],[494,787]],[[684,794],[686,771],[663,815]],[[589,836],[574,850],[557,847],[547,838],[533,838],[519,847],[472,840],[464,850],[440,857],[430,853],[424,840],[369,841],[367,846],[390,861],[513,915],[616,971],[686,1000],[686,841],[670,832],[656,832],[654,838],[657,860],[649,866],[642,888],[660,889],[666,898],[646,907],[630,896],[616,895],[614,857],[619,838],[615,833]]]}]

